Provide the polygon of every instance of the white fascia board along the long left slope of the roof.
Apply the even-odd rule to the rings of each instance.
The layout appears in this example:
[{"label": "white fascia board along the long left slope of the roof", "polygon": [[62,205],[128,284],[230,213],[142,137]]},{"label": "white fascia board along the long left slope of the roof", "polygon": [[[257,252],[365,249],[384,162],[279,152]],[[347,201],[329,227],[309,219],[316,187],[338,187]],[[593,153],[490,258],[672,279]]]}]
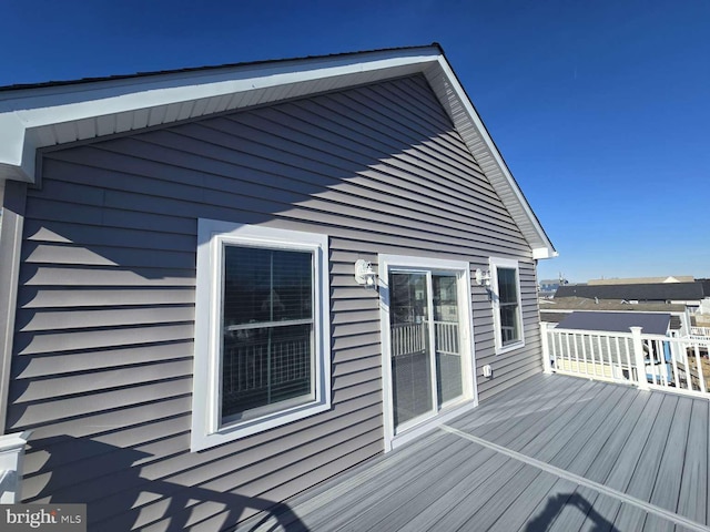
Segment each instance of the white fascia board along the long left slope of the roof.
[{"label": "white fascia board along the long left slope of the roof", "polygon": [[[397,75],[396,72],[402,68],[422,71],[426,64],[436,61],[438,55],[439,51],[435,48],[365,52],[363,55],[237,65],[219,72],[179,72],[9,91],[0,94],[0,181],[34,182],[36,151],[57,144],[48,140],[53,134],[41,133],[57,124],[71,124],[99,116],[133,113],[173,103],[276,86],[303,85],[320,80],[349,78],[345,86],[355,85],[371,81],[373,76],[386,79]],[[305,88],[300,95],[307,95],[315,90]],[[270,101],[266,99],[260,103]],[[99,136],[98,132],[90,137],[95,136]]]}]

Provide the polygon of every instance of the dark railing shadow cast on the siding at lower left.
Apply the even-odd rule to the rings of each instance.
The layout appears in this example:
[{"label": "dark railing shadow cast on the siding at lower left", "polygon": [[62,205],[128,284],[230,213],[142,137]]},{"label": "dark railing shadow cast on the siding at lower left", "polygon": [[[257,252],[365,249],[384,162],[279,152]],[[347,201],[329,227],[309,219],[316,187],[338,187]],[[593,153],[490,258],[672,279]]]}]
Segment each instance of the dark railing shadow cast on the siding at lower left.
[{"label": "dark railing shadow cast on the siding at lower left", "polygon": [[201,524],[205,512],[200,507],[211,503],[222,509],[209,512],[207,520],[214,521],[216,514],[221,523],[202,524],[214,530],[233,526],[258,511],[286,530],[307,531],[283,502],[146,479],[142,477],[141,462],[152,456],[143,451],[71,437],[34,440],[31,447],[34,452],[49,454],[40,471],[33,473],[49,472],[38,499],[87,504],[89,530],[125,532],[156,523],[161,530],[185,530]]}]

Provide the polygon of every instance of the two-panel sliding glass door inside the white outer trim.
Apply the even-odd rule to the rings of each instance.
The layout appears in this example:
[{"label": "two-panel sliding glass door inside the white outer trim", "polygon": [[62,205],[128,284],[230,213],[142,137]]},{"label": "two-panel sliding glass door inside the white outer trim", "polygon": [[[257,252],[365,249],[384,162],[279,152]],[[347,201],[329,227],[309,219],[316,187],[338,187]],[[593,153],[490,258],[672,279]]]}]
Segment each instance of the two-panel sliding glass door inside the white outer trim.
[{"label": "two-panel sliding glass door inside the white outer trim", "polygon": [[389,272],[395,433],[464,395],[458,278],[455,272]]}]

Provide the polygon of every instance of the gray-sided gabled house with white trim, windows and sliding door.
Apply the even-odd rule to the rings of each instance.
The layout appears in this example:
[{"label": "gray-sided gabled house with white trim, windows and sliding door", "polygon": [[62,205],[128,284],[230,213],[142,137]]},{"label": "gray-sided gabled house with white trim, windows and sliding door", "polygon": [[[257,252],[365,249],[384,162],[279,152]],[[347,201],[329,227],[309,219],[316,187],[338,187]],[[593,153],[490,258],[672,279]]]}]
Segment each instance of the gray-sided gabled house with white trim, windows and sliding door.
[{"label": "gray-sided gabled house with white trim, windows and sliding door", "polygon": [[24,502],[217,530],[542,369],[556,252],[438,45],[3,88],[0,135]]}]

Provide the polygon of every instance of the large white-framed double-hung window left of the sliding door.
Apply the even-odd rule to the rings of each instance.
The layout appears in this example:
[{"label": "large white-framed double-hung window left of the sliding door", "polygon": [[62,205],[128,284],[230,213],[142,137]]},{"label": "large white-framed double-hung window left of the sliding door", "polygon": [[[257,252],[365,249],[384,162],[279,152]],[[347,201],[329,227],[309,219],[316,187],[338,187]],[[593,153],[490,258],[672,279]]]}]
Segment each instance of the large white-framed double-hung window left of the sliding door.
[{"label": "large white-framed double-hung window left of the sliding door", "polygon": [[197,224],[193,451],[331,408],[326,235]]}]

